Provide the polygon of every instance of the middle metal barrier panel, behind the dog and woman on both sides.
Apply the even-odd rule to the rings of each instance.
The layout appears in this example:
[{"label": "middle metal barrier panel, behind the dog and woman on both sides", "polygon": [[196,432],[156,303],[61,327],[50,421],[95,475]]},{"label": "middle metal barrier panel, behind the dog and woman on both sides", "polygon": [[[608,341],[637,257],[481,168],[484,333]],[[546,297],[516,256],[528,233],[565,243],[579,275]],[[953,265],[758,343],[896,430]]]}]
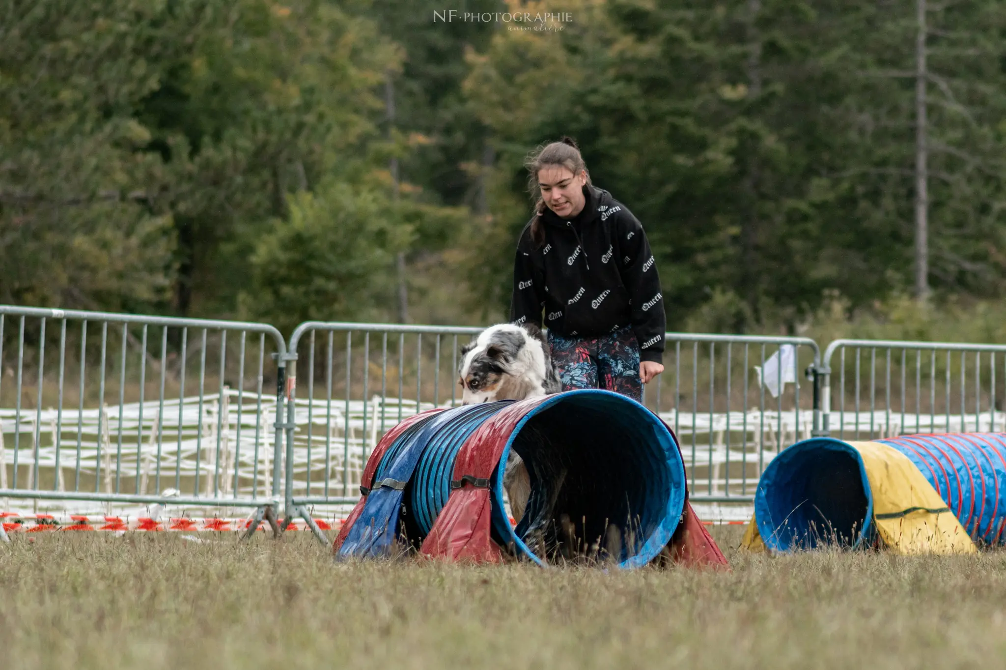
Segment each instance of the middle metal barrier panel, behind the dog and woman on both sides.
[{"label": "middle metal barrier panel, behind the dog and woman on both sides", "polygon": [[[287,367],[288,518],[310,524],[309,506],[354,503],[363,465],[388,429],[416,411],[458,404],[460,349],[481,331],[299,326]],[[781,355],[787,348],[793,355]],[[769,397],[772,379],[762,383],[757,368],[774,359],[787,364],[775,366],[779,393]],[[749,502],[768,461],[818,433],[813,370],[819,362],[820,350],[808,338],[668,333],[665,372],[643,400],[678,436],[696,502]],[[812,391],[801,394],[804,368]]]}]

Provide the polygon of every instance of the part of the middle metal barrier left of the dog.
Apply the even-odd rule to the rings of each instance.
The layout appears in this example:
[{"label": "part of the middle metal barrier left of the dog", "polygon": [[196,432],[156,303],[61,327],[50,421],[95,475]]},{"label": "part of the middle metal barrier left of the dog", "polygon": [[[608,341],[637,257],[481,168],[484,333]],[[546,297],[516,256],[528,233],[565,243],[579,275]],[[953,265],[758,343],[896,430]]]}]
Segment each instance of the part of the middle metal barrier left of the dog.
[{"label": "part of the middle metal barrier left of the dog", "polygon": [[[302,517],[322,537],[308,506],[355,503],[363,466],[385,432],[405,416],[460,402],[459,352],[482,330],[298,326],[287,357],[287,519]],[[306,377],[300,384],[298,364]],[[298,385],[306,397],[297,397]]]}]

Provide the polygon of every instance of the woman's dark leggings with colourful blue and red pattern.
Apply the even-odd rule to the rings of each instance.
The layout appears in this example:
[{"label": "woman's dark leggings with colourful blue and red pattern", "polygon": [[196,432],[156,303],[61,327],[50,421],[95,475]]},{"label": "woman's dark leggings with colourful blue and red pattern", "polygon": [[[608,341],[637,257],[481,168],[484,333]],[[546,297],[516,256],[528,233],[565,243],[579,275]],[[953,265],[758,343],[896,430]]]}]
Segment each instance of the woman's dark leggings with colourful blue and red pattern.
[{"label": "woman's dark leggings with colourful blue and red pattern", "polygon": [[631,327],[582,339],[559,337],[549,331],[548,344],[562,390],[605,388],[642,400],[639,343]]}]

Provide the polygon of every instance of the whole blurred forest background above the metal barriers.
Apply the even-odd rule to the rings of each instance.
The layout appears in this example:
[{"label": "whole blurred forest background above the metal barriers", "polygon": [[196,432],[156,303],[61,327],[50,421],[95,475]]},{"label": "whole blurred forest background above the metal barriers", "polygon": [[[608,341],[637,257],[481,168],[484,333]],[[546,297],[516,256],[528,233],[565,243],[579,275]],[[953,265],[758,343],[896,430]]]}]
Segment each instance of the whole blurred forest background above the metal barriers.
[{"label": "whole blurred forest background above the metal barriers", "polygon": [[0,304],[503,320],[564,134],[670,330],[1006,341],[994,0],[0,0]]}]

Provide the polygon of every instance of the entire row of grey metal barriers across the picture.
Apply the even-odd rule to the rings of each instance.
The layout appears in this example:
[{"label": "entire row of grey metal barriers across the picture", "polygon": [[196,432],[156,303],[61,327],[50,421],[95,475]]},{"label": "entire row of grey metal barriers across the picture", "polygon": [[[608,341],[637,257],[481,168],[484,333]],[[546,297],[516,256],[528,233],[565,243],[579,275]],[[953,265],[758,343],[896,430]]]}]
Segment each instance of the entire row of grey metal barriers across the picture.
[{"label": "entire row of grey metal barriers across the picture", "polygon": [[[260,323],[0,306],[0,506],[344,509],[405,416],[461,401],[481,328]],[[1001,355],[1001,357],[1000,357]],[[1006,346],[668,333],[644,404],[692,498],[749,503],[804,438],[1006,429]],[[1002,373],[997,368],[1003,365]]]}]

